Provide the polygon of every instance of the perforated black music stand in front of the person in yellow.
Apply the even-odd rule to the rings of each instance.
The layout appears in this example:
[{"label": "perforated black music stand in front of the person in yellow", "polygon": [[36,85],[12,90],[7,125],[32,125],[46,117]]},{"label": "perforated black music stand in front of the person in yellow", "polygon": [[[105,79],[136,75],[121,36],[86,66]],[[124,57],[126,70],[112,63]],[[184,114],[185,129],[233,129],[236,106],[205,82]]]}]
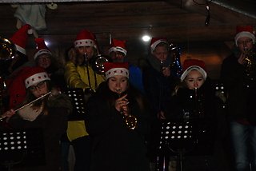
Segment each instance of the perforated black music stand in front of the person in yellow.
[{"label": "perforated black music stand in front of the person in yellow", "polygon": [[81,88],[66,89],[64,92],[68,97],[70,97],[73,112],[69,116],[70,121],[81,120],[85,117],[86,113],[86,102],[85,94]]}]

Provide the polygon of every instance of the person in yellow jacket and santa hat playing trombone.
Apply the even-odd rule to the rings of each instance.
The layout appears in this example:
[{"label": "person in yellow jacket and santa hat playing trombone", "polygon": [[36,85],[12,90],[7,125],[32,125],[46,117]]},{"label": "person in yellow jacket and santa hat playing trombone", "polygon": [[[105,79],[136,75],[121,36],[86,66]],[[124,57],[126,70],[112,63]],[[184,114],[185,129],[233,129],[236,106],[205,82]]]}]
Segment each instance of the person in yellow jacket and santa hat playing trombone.
[{"label": "person in yellow jacket and santa hat playing trombone", "polygon": [[[70,49],[70,61],[66,62],[64,77],[69,88],[84,90],[85,101],[105,80],[103,74],[98,74],[93,69],[97,53],[94,34],[89,30],[81,30],[74,41],[74,49]],[[74,171],[88,170],[90,168],[90,136],[86,131],[84,118],[68,122],[67,137],[74,148]]]}]

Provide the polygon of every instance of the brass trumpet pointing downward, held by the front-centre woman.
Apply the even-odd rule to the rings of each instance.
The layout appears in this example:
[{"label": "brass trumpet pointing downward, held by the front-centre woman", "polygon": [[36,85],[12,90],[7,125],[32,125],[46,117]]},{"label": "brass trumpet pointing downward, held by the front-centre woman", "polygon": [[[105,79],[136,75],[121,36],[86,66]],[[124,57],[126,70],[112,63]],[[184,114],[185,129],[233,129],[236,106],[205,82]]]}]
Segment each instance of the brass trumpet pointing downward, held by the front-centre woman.
[{"label": "brass trumpet pointing downward, held by the front-centre woman", "polygon": [[[121,89],[117,89],[116,91],[119,94],[119,97],[121,97],[121,93],[122,93]],[[120,113],[121,114],[124,113],[122,109],[121,109]],[[134,115],[130,114],[130,109],[128,108],[128,105],[127,105],[127,113],[128,113],[127,116],[123,114],[123,119],[125,121],[125,124],[126,124],[128,129],[134,130],[138,126],[138,120],[137,120],[137,117],[135,117]]]}]

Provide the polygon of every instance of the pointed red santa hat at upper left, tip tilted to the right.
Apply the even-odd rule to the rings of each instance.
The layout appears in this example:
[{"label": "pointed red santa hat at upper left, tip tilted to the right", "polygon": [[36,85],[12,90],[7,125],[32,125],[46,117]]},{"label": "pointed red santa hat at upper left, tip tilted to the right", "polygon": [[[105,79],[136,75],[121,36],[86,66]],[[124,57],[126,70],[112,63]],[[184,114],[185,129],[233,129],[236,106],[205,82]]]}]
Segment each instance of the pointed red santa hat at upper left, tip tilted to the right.
[{"label": "pointed red santa hat at upper left, tip tilted to the right", "polygon": [[18,50],[22,54],[26,54],[26,42],[27,42],[28,34],[31,34],[31,27],[30,27],[30,25],[26,24],[26,25],[22,26],[10,38],[10,40],[16,46],[16,50]]}]

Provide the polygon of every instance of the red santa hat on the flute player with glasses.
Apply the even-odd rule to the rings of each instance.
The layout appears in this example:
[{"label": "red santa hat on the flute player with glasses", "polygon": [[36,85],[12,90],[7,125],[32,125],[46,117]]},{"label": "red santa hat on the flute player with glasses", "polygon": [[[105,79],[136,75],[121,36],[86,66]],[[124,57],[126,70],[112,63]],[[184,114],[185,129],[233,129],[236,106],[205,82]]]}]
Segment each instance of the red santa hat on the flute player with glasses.
[{"label": "red santa hat on the flute player with glasses", "polygon": [[24,82],[26,88],[29,88],[31,85],[38,84],[39,82],[50,80],[46,70],[42,67],[28,67],[26,74],[24,74]]}]

